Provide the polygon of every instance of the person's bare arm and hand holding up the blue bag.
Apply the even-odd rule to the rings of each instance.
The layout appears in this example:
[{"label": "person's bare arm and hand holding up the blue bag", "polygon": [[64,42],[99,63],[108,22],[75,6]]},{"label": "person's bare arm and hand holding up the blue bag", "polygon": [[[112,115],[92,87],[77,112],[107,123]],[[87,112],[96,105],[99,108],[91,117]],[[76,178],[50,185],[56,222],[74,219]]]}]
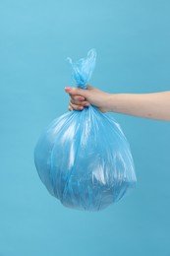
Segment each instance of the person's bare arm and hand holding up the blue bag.
[{"label": "person's bare arm and hand holding up the blue bag", "polygon": [[87,86],[87,90],[65,88],[71,96],[69,110],[83,110],[89,104],[102,112],[117,112],[143,118],[170,121],[170,91],[150,94],[107,94]]}]

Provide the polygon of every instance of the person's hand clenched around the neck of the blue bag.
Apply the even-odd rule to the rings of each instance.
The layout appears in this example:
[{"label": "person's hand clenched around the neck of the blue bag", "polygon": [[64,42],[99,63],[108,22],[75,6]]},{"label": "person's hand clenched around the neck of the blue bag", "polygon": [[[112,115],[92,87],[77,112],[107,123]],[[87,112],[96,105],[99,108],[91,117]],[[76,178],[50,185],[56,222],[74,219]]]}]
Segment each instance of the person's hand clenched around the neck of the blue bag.
[{"label": "person's hand clenched around the neck of the blue bag", "polygon": [[87,89],[65,88],[65,92],[71,96],[69,110],[83,110],[84,107],[92,104],[102,112],[109,111],[107,101],[109,94],[104,93],[96,88],[87,86]]}]

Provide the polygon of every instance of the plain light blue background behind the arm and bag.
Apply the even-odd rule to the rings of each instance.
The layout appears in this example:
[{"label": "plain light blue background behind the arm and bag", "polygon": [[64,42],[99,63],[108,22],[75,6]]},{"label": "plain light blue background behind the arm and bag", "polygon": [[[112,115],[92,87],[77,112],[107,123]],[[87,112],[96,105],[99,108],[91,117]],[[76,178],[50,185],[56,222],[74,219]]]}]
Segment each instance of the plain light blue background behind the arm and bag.
[{"label": "plain light blue background behind the arm and bag", "polygon": [[115,114],[138,188],[99,213],[64,208],[33,163],[68,108],[66,57],[95,47],[91,84],[110,93],[170,90],[169,13],[169,0],[0,0],[0,256],[170,256],[169,122]]}]

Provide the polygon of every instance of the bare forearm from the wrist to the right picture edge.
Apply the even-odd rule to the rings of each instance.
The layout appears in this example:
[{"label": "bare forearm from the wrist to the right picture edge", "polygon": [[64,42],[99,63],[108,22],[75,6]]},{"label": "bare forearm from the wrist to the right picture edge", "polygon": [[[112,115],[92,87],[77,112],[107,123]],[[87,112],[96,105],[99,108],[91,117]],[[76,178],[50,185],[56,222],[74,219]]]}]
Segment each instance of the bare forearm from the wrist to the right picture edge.
[{"label": "bare forearm from the wrist to the right picture edge", "polygon": [[109,111],[170,121],[170,91],[153,94],[110,95]]}]

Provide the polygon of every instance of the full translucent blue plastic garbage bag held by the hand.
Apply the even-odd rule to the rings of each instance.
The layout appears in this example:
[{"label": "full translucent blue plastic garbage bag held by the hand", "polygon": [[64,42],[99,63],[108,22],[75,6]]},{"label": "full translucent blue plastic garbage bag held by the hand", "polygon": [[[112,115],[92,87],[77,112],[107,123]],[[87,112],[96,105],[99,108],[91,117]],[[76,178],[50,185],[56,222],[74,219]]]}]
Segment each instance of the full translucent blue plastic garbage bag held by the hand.
[{"label": "full translucent blue plastic garbage bag held by the hand", "polygon": [[[73,63],[73,80],[86,89],[96,52]],[[34,161],[49,193],[69,208],[99,211],[136,185],[129,143],[112,116],[90,105],[55,119],[40,136]]]}]

